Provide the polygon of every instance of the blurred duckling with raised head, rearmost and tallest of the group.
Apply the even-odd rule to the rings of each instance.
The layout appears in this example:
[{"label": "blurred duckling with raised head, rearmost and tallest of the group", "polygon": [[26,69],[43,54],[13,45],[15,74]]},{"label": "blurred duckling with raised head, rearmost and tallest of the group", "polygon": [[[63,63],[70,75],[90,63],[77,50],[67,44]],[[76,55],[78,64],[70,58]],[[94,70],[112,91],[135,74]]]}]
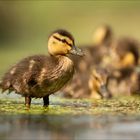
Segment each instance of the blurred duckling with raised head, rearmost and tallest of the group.
[{"label": "blurred duckling with raised head, rearmost and tallest of the group", "polygon": [[75,62],[75,67],[78,72],[87,72],[90,67],[97,66],[102,63],[104,55],[108,55],[110,52],[110,46],[112,43],[112,29],[108,25],[100,25],[93,35],[93,44],[82,45],[85,56],[80,59],[73,56],[72,59]]}]

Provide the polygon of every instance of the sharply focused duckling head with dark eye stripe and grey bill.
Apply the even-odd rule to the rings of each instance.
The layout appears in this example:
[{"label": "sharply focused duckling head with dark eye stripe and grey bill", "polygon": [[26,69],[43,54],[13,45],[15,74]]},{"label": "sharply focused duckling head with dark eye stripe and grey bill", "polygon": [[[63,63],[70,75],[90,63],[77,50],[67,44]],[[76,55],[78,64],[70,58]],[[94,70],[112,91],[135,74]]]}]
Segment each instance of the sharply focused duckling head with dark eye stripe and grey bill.
[{"label": "sharply focused duckling head with dark eye stripe and grey bill", "polygon": [[81,49],[75,46],[73,36],[63,29],[56,30],[50,35],[48,40],[48,52],[51,55],[83,55]]}]

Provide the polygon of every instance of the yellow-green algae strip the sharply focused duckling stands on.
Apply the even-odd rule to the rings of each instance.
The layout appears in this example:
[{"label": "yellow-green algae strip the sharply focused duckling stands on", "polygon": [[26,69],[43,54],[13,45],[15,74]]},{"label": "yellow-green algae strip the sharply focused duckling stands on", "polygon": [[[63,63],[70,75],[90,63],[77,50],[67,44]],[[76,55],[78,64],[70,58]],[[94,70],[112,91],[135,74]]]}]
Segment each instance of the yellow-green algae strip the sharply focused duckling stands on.
[{"label": "yellow-green algae strip the sharply focused duckling stands on", "polygon": [[[37,101],[39,101],[37,99]],[[116,97],[110,100],[52,98],[49,107],[33,102],[30,109],[23,98],[0,99],[0,114],[46,115],[140,115],[140,97]]]}]

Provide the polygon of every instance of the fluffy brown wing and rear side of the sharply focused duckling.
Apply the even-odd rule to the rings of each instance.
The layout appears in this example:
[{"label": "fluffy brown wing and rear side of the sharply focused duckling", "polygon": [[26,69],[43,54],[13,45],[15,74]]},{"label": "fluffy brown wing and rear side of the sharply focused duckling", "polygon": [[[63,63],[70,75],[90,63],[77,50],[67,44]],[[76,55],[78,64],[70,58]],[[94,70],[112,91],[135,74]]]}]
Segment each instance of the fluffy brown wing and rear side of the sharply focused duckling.
[{"label": "fluffy brown wing and rear side of the sharply focused duckling", "polygon": [[5,73],[1,81],[2,90],[30,92],[30,88],[37,84],[36,79],[48,58],[45,55],[34,55],[21,60]]}]

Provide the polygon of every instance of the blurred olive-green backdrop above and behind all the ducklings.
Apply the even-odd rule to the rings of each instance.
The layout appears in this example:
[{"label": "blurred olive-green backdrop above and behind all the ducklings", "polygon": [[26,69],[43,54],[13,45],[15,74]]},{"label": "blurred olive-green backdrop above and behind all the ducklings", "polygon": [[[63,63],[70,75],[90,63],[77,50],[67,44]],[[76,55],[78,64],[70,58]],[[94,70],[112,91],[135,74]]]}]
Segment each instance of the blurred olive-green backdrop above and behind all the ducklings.
[{"label": "blurred olive-green backdrop above and behind all the ducklings", "polygon": [[140,39],[140,2],[0,1],[0,77],[19,59],[47,53],[53,30],[67,29],[76,44],[87,44],[102,23],[109,24],[115,36]]}]

